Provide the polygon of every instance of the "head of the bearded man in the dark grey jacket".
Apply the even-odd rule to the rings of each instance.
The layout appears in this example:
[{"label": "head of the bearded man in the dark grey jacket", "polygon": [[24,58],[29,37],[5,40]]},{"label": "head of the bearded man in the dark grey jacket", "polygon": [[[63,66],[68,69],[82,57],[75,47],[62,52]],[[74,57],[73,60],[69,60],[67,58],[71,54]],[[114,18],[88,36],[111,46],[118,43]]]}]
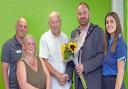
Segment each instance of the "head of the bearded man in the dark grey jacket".
[{"label": "head of the bearded man in the dark grey jacket", "polygon": [[77,17],[80,26],[87,26],[89,23],[89,10],[84,4],[81,4],[77,9]]}]

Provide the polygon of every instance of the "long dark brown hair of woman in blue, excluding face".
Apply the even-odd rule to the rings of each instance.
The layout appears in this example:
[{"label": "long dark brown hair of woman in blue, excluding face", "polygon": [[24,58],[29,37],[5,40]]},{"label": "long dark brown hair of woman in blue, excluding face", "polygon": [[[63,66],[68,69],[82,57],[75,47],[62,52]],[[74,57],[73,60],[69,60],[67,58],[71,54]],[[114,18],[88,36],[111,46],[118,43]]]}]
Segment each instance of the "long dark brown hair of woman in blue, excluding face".
[{"label": "long dark brown hair of woman in blue, excluding face", "polygon": [[119,20],[118,15],[115,12],[109,12],[105,17],[105,39],[104,39],[105,53],[108,49],[108,40],[110,39],[110,34],[107,32],[107,29],[106,29],[106,19],[107,19],[108,16],[112,16],[116,21],[116,31],[115,31],[115,34],[114,34],[114,41],[112,43],[111,52],[115,51],[116,44],[117,44],[117,41],[118,41],[118,38],[119,38],[119,34],[122,35],[122,29],[121,29],[121,24],[120,24],[120,20]]}]

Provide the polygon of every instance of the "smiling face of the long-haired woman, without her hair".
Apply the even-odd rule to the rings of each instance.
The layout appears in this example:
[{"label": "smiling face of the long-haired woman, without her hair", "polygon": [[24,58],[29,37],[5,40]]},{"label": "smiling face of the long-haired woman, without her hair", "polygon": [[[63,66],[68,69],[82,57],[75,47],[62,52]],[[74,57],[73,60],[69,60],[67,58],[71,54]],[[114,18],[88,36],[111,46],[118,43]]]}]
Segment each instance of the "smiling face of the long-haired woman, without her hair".
[{"label": "smiling face of the long-haired woman, without her hair", "polygon": [[116,31],[116,21],[115,18],[113,18],[112,16],[108,16],[106,18],[106,30],[107,32],[112,36],[115,34]]}]

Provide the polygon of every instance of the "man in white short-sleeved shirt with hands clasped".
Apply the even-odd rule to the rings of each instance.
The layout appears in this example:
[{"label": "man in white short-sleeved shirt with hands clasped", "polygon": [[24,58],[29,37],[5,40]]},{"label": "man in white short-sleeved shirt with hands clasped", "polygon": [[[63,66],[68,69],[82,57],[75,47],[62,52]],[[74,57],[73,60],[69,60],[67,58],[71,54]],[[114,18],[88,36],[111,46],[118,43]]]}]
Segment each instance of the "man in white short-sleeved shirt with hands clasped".
[{"label": "man in white short-sleeved shirt with hands clasped", "polygon": [[51,89],[69,89],[66,63],[62,60],[61,44],[68,42],[66,34],[60,31],[61,18],[58,12],[49,15],[50,30],[40,39],[39,56],[44,59],[51,74]]}]

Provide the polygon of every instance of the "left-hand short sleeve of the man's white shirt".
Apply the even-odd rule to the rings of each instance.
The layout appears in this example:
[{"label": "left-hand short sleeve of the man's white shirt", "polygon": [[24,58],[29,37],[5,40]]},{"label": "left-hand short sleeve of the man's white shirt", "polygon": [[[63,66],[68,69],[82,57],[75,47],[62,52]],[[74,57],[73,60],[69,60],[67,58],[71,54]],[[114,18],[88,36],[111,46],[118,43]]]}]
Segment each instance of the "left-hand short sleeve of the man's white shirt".
[{"label": "left-hand short sleeve of the man's white shirt", "polygon": [[48,44],[45,37],[41,37],[39,43],[39,56],[48,59]]}]

